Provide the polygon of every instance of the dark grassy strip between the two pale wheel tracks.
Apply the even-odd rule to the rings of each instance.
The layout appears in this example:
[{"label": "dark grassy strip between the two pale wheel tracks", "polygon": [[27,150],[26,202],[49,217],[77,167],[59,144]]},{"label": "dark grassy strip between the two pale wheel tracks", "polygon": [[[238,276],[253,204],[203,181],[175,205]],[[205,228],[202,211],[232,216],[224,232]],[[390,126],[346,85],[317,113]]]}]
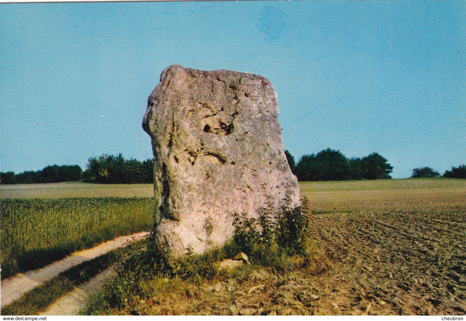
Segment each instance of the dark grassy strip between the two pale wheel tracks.
[{"label": "dark grassy strip between the two pale wheel tracks", "polygon": [[37,315],[43,312],[60,296],[72,291],[75,286],[88,281],[117,262],[124,253],[140,246],[140,242],[118,248],[95,259],[69,268],[39,287],[24,294],[20,299],[3,307],[2,315]]}]

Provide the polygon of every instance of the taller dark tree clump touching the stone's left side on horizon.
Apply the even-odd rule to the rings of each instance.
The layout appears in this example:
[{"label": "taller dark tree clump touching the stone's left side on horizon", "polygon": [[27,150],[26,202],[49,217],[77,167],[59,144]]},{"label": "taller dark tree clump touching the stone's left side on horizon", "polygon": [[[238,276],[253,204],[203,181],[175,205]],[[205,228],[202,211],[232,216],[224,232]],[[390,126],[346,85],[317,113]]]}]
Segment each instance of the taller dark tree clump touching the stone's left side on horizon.
[{"label": "taller dark tree clump touching the stone's left side on horizon", "polygon": [[153,182],[153,159],[140,162],[118,156],[102,155],[89,158],[83,180],[87,183],[133,184]]}]

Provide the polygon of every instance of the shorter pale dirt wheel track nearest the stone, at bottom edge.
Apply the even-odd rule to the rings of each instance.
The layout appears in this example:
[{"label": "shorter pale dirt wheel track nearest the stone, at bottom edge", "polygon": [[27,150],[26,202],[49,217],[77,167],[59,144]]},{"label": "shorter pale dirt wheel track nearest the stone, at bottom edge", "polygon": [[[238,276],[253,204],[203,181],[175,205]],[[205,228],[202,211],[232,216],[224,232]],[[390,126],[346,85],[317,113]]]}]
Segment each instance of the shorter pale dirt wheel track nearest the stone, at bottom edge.
[{"label": "shorter pale dirt wheel track nearest the stone, at bottom edge", "polygon": [[76,315],[85,306],[89,295],[98,290],[105,279],[114,272],[113,267],[110,266],[89,281],[75,287],[73,291],[52,303],[41,315]]}]

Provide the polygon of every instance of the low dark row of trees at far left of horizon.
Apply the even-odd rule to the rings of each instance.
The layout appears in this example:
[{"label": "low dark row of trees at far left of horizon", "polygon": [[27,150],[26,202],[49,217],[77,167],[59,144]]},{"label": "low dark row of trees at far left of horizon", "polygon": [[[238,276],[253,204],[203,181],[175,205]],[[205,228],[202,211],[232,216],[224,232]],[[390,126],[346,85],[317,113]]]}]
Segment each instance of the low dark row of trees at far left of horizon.
[{"label": "low dark row of trees at far left of horizon", "polygon": [[82,179],[82,169],[78,165],[52,165],[41,171],[25,171],[19,174],[0,172],[0,184],[35,184],[73,182]]}]

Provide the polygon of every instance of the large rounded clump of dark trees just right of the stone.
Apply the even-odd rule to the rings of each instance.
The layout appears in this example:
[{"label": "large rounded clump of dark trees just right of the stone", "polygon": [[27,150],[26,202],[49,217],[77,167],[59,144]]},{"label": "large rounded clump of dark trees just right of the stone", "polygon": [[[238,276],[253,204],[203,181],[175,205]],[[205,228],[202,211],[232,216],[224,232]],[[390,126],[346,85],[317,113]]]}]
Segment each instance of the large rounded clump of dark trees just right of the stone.
[{"label": "large rounded clump of dark trees just right of the stone", "polygon": [[294,173],[299,181],[338,181],[388,179],[392,170],[393,166],[378,153],[348,159],[339,150],[328,148],[317,155],[302,156]]}]

